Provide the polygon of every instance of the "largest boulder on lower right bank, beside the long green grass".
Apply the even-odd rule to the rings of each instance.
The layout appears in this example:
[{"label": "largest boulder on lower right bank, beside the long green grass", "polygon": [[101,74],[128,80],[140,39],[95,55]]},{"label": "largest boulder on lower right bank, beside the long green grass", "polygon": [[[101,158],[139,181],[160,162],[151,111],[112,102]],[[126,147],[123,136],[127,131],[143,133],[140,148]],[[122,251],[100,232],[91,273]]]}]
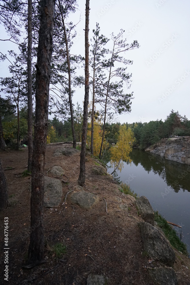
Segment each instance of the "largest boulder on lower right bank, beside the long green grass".
[{"label": "largest boulder on lower right bank, beside the long green grass", "polygon": [[149,223],[140,222],[138,225],[142,235],[144,250],[148,252],[151,258],[172,266],[175,262],[175,253],[166,237]]}]

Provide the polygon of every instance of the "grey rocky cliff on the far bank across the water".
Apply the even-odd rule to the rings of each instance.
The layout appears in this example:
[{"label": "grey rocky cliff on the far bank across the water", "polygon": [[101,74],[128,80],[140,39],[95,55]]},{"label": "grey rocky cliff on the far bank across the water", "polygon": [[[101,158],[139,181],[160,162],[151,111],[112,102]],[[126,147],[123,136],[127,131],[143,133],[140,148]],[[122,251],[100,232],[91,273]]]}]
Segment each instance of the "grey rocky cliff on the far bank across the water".
[{"label": "grey rocky cliff on the far bank across the water", "polygon": [[146,151],[164,156],[169,160],[190,164],[190,137],[164,139],[160,147],[154,150],[148,148]]}]

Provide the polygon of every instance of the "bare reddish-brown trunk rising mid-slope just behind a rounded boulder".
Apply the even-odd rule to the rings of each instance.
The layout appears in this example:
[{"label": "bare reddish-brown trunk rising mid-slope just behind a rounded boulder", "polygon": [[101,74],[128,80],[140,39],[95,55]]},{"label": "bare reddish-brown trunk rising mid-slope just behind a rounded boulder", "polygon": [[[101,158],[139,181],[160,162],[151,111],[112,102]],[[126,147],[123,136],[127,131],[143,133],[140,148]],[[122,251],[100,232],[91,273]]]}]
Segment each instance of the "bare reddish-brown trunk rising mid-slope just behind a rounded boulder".
[{"label": "bare reddish-brown trunk rising mid-slope just behind a rounded boulder", "polygon": [[80,158],[80,174],[79,184],[85,184],[85,151],[86,151],[86,135],[88,126],[88,100],[89,100],[89,0],[86,0],[86,18],[85,18],[85,96],[84,96],[84,111],[83,111],[83,129],[81,143],[81,158]]}]

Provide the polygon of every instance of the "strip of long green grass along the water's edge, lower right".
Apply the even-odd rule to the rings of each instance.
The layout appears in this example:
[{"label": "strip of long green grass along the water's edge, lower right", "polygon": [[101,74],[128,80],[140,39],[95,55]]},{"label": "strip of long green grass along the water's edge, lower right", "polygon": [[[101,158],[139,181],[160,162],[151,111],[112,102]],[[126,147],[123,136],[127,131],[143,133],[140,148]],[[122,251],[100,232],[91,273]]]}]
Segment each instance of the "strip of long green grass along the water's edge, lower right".
[{"label": "strip of long green grass along the water's edge, lower right", "polygon": [[162,217],[158,211],[154,212],[154,221],[158,223],[158,226],[162,229],[171,245],[178,251],[181,251],[184,255],[189,256],[187,245],[179,239],[176,231],[167,223],[166,219]]}]

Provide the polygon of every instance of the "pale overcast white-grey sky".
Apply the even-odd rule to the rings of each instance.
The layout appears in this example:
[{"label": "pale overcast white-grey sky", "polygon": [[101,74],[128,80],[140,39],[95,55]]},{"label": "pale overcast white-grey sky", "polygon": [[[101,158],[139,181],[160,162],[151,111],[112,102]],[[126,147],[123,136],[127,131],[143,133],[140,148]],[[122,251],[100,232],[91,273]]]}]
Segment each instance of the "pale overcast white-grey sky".
[{"label": "pale overcast white-grey sky", "polygon": [[[117,115],[121,123],[149,122],[166,119],[171,109],[190,119],[190,1],[183,0],[90,0],[89,39],[99,23],[100,32],[110,38],[122,28],[127,42],[137,40],[140,47],[125,53],[132,60],[127,72],[132,82],[127,93],[133,91],[131,112]],[[80,21],[79,21],[80,19]],[[70,16],[77,23],[77,36],[72,52],[84,56],[85,0],[78,1],[78,11]],[[1,26],[1,38],[8,38]],[[111,41],[110,41],[111,44]],[[18,49],[1,42],[1,50]],[[108,45],[109,48],[111,46]],[[5,76],[9,63],[0,63],[0,77]],[[80,71],[84,75],[84,70]],[[7,74],[6,74],[7,76]],[[73,95],[82,107],[84,87]],[[91,101],[91,94],[89,94]]]}]

